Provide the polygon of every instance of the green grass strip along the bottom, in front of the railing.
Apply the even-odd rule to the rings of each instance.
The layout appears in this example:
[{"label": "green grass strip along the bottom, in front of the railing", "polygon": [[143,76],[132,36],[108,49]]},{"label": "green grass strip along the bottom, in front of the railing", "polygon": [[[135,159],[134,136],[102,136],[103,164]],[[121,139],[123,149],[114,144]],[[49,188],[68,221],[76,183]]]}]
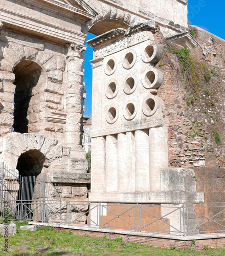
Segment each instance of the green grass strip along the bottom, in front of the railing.
[{"label": "green grass strip along the bottom, in front of the railing", "polygon": [[[17,222],[17,227],[22,222]],[[116,239],[93,238],[87,235],[75,235],[70,231],[56,231],[53,227],[39,227],[36,231],[20,230],[15,236],[8,238],[9,251],[3,250],[4,238],[0,238],[0,255],[22,256],[22,255],[225,255],[225,249],[216,248],[202,251],[184,250],[171,246],[168,249],[149,245],[141,245],[124,241],[121,237]],[[26,245],[26,249],[17,246]],[[194,245],[194,242],[191,242]],[[16,246],[16,250],[12,250]],[[210,254],[211,253],[211,254]]]}]

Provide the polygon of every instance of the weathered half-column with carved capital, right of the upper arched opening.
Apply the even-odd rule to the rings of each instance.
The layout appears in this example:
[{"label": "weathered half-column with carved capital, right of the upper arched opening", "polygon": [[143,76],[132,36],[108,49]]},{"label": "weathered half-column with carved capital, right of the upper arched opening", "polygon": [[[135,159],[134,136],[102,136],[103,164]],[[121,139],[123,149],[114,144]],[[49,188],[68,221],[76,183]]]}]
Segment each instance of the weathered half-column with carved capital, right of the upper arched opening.
[{"label": "weathered half-column with carved capital, right of the upper arched opening", "polygon": [[[81,147],[81,117],[82,117],[82,89],[83,89],[83,57],[85,46],[76,43],[68,44],[66,55],[67,83],[66,95],[66,124],[65,144],[70,147],[71,158],[85,158]],[[72,163],[71,163],[72,165]],[[72,166],[70,166],[71,168]]]}]

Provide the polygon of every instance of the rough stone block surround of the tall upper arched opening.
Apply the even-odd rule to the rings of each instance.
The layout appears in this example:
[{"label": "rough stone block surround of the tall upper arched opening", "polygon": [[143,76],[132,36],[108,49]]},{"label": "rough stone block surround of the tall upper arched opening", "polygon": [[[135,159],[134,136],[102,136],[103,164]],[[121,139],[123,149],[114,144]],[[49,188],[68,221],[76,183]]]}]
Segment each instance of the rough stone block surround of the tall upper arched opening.
[{"label": "rough stone block surround of the tall upper arched opening", "polygon": [[[32,45],[30,47],[28,45]],[[42,93],[51,89],[51,83],[62,83],[62,72],[65,70],[65,60],[62,56],[57,56],[46,52],[41,42],[33,42],[33,44],[22,45],[16,42],[8,41],[2,49],[3,59],[0,61],[0,91],[2,89],[6,94],[0,95],[1,113],[0,113],[0,132],[4,137],[10,133],[13,126],[14,117],[14,92],[15,92],[15,67],[23,61],[33,61],[39,65],[43,74],[46,75],[46,84],[42,88]],[[60,64],[58,64],[60,63]],[[49,83],[48,83],[49,81]],[[59,87],[59,91],[61,88]],[[59,92],[59,94],[61,91]],[[43,98],[43,95],[42,95]],[[38,132],[39,126],[32,124],[31,130],[28,132]],[[27,131],[24,131],[27,132]]]}]

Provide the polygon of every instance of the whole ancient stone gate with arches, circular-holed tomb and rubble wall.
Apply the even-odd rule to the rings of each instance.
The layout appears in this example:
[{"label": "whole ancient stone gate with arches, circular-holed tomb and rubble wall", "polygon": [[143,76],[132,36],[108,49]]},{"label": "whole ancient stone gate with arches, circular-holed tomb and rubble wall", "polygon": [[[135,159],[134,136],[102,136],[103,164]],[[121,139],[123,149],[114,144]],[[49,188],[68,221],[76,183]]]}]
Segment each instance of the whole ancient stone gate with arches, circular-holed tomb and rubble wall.
[{"label": "whole ancient stone gate with arches, circular-holed tomb and rubble wall", "polygon": [[[225,42],[188,27],[187,4],[2,0],[0,162],[21,176],[50,177],[63,200],[87,202],[83,75],[91,32],[96,38],[88,41],[94,49],[89,200],[204,202],[207,189],[201,184],[197,191],[193,168],[224,166],[224,147],[214,135],[224,124]],[[186,45],[203,63],[194,96],[174,51],[165,54],[171,42],[174,49]],[[219,132],[225,138],[224,129]],[[175,216],[170,221],[176,225]]]}]

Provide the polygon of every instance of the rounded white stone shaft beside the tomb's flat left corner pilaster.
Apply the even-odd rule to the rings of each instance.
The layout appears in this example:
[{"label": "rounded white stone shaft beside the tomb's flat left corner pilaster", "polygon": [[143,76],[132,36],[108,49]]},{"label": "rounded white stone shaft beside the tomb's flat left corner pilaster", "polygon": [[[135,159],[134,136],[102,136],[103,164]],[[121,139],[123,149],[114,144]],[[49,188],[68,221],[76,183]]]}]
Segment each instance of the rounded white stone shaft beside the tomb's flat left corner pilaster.
[{"label": "rounded white stone shaft beside the tomb's flat left corner pilaster", "polygon": [[117,135],[106,136],[106,191],[117,192],[118,190],[118,156]]}]

